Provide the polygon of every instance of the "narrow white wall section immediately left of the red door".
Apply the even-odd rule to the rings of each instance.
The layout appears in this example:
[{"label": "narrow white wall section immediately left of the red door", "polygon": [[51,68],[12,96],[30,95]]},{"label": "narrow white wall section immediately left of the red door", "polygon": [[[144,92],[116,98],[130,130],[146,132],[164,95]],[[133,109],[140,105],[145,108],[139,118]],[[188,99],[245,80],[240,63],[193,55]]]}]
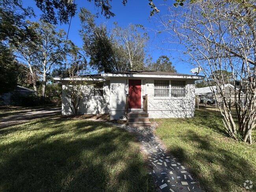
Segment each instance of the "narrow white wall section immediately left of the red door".
[{"label": "narrow white wall section immediately left of the red door", "polygon": [[126,79],[110,78],[110,119],[120,119],[125,116]]}]

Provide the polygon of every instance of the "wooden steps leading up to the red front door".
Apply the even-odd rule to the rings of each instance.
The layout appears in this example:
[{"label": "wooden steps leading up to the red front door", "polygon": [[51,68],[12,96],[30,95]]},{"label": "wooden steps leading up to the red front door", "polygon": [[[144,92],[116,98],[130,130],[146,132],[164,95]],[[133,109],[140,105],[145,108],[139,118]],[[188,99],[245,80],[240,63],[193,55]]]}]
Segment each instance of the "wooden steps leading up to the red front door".
[{"label": "wooden steps leading up to the red front door", "polygon": [[128,111],[125,113],[127,123],[130,126],[150,126],[148,113],[145,111]]}]

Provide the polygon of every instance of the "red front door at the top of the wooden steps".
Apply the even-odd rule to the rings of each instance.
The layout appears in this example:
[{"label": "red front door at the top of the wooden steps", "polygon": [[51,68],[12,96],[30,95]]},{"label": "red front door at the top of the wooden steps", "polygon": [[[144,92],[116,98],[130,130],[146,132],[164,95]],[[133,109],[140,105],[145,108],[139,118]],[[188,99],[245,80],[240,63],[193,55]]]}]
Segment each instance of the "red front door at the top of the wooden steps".
[{"label": "red front door at the top of the wooden steps", "polygon": [[140,79],[129,79],[129,108],[141,108]]}]

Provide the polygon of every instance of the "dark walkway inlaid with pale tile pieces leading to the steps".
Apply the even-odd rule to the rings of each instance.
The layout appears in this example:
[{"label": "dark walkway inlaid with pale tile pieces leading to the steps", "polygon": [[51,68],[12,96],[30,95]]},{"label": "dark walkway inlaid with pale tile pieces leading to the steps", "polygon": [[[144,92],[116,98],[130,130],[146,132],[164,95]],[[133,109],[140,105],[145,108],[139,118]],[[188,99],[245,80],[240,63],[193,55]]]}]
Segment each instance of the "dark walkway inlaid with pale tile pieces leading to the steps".
[{"label": "dark walkway inlaid with pale tile pieces leading to the steps", "polygon": [[173,156],[166,153],[159,139],[154,135],[155,126],[133,127],[119,124],[108,124],[121,127],[135,133],[148,155],[150,175],[154,177],[161,192],[203,192],[187,169]]}]

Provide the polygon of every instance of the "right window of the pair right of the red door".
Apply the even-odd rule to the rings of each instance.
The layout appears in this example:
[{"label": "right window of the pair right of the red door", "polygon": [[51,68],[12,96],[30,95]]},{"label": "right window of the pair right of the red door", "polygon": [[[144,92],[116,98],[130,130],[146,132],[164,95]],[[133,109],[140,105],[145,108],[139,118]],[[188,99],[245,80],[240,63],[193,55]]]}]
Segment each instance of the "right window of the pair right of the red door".
[{"label": "right window of the pair right of the red door", "polygon": [[186,97],[186,81],[171,81],[171,96]]}]

